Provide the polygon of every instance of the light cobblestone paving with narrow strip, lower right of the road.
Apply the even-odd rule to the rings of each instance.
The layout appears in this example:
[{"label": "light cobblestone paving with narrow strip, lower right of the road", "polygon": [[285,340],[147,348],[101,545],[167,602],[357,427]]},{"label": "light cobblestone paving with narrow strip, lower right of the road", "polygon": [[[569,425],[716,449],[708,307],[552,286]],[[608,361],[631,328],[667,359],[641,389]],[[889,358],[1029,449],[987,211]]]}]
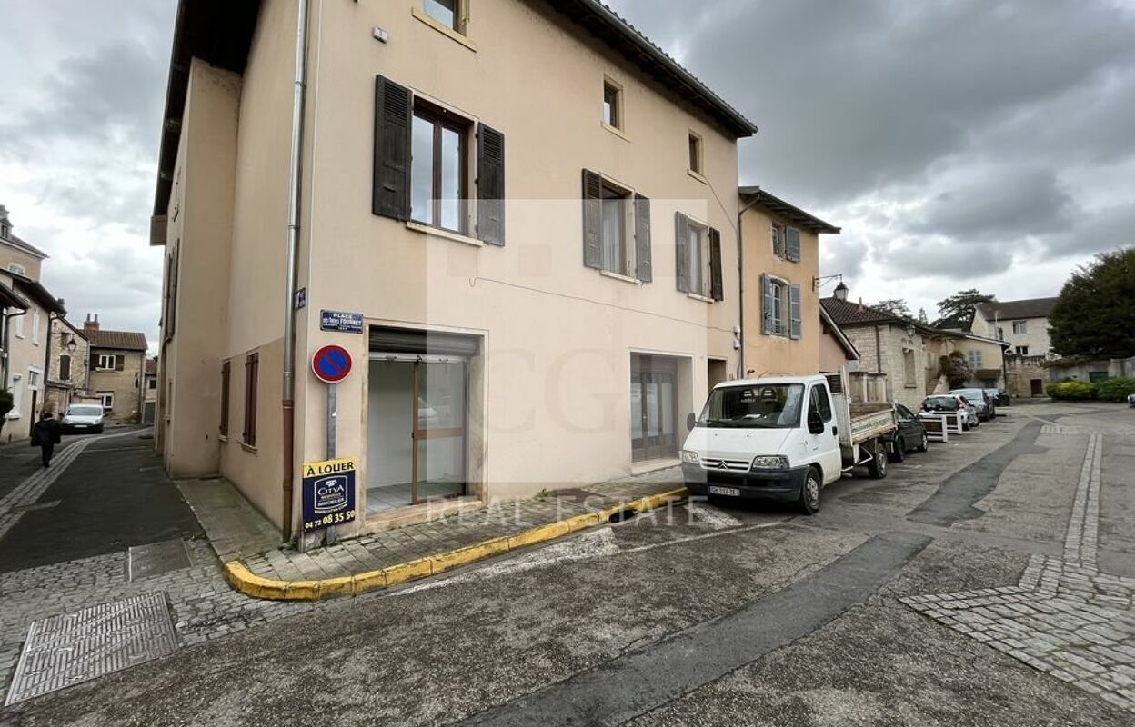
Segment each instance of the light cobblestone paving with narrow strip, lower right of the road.
[{"label": "light cobblestone paving with narrow strip, lower right of the road", "polygon": [[[1086,428],[1045,426],[1083,436]],[[1034,555],[1015,586],[902,599],[1031,667],[1135,712],[1135,578],[1099,570],[1103,436],[1090,433],[1062,557]]]}]

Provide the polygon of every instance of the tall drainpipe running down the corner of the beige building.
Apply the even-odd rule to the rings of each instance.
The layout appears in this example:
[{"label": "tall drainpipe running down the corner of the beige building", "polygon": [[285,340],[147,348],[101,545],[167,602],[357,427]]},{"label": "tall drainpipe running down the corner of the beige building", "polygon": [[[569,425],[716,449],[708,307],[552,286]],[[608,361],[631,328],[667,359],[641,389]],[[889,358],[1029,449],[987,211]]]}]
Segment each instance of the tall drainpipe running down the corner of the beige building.
[{"label": "tall drainpipe running down the corner of the beige building", "polygon": [[288,170],[287,277],[284,282],[284,540],[292,540],[292,481],[295,477],[295,320],[296,268],[300,256],[300,204],[303,152],[303,105],[308,83],[308,9],[300,0],[295,33],[295,81],[292,94],[292,161]]}]

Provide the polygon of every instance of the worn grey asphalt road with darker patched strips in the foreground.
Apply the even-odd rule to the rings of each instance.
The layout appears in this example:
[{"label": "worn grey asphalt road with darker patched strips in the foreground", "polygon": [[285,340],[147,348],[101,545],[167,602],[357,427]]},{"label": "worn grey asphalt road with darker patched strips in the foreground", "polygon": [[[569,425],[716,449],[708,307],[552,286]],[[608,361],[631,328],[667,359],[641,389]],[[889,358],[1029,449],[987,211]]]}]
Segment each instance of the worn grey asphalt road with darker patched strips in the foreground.
[{"label": "worn grey asphalt road with darker patched strips in the foreground", "polygon": [[[1113,646],[1076,641],[1107,633],[1092,624],[1042,634],[1063,640],[1053,659],[1086,654],[1099,669],[1073,680],[1014,656],[1017,632],[994,633],[1048,615],[1001,605],[1004,623],[970,629],[905,602],[1034,573],[1041,592],[1034,564],[1084,567],[1093,543],[1095,573],[1118,590],[1092,591],[1069,565],[1053,598],[1120,598],[1135,563],[1135,420],[1104,406],[1009,414],[888,480],[836,483],[814,517],[681,507],[393,592],[263,607],[263,622],[227,622],[262,625],[209,632],[0,724],[1132,725],[1129,601],[1093,606],[1111,615]],[[1093,693],[1101,674],[1113,688]]]}]

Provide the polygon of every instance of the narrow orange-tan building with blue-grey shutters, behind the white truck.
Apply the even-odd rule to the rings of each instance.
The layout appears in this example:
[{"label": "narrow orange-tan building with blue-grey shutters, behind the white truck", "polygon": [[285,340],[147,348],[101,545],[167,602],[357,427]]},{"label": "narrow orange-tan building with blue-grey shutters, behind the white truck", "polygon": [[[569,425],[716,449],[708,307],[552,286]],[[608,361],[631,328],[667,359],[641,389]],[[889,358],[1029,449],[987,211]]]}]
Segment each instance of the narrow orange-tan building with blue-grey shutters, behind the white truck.
[{"label": "narrow orange-tan building with blue-grey shutters, behind the white truck", "polygon": [[819,235],[840,228],[760,187],[740,189],[746,377],[819,371]]}]

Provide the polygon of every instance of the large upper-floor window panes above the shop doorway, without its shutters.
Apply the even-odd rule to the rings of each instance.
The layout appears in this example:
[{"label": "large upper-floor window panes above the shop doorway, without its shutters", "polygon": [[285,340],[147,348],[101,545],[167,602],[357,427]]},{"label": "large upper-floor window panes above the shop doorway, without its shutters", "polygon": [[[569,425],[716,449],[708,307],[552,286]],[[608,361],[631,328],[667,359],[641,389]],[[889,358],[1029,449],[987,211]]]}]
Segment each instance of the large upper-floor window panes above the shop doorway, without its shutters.
[{"label": "large upper-floor window panes above the shop doorway, without its shutters", "polygon": [[469,121],[431,104],[414,103],[410,217],[464,234]]}]

